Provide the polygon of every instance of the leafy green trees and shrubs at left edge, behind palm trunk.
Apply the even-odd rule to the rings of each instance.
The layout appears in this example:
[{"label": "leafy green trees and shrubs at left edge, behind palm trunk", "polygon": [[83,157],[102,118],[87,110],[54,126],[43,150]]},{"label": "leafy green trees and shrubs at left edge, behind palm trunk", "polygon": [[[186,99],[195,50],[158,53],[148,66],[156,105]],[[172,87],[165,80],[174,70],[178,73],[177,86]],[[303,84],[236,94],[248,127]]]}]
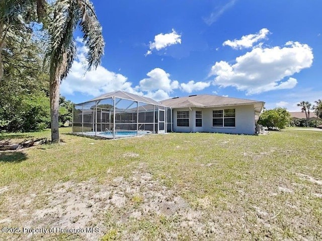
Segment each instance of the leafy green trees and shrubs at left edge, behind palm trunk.
[{"label": "leafy green trees and shrubs at left edge, behind palm trunk", "polygon": [[[33,27],[35,29],[35,26]],[[0,129],[30,132],[50,123],[49,74],[43,66],[43,42],[35,33],[10,29],[2,51],[3,81],[0,84]]]}]

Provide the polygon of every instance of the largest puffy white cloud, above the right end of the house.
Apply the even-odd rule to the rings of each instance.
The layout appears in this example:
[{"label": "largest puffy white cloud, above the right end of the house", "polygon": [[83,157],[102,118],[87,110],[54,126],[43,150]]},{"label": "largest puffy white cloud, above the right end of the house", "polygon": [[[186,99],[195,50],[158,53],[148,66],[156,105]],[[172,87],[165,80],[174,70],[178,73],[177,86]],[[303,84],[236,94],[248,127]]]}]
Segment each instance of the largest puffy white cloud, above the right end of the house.
[{"label": "largest puffy white cloud, above the right end of the house", "polygon": [[290,77],[312,65],[312,49],[306,44],[287,42],[281,47],[258,46],[236,58],[235,64],[216,62],[210,76],[215,75],[213,84],[221,87],[234,86],[246,94],[257,94],[274,89],[293,88],[297,80]]}]

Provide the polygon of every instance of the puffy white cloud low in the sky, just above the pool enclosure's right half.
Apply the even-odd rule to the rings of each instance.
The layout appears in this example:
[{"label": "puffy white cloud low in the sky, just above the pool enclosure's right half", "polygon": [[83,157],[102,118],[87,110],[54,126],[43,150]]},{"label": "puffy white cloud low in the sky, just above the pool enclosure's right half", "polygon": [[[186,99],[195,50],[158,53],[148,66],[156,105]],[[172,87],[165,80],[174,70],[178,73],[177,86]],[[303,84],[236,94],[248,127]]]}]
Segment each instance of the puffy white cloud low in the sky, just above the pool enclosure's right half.
[{"label": "puffy white cloud low in the sky, just above the pool enclosure's right half", "polygon": [[179,82],[177,80],[171,80],[170,74],[166,73],[163,69],[155,68],[146,74],[148,78],[140,80],[140,90],[152,91],[161,89],[166,92],[172,92],[173,89],[179,88]]}]

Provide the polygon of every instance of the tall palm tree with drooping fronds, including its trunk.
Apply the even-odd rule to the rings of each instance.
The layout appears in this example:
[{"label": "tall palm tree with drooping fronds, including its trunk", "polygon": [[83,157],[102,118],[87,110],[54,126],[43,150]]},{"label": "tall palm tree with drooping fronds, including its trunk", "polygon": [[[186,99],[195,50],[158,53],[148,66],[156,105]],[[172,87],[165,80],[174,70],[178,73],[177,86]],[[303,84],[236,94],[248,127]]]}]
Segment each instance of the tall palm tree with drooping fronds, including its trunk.
[{"label": "tall palm tree with drooping fronds, including its trunk", "polygon": [[52,16],[52,24],[48,27],[50,42],[47,51],[50,65],[51,140],[59,142],[59,86],[67,76],[76,55],[73,33],[77,25],[84,34],[83,40],[88,48],[87,70],[100,64],[105,43],[102,27],[89,0],[57,0],[53,6]]}]

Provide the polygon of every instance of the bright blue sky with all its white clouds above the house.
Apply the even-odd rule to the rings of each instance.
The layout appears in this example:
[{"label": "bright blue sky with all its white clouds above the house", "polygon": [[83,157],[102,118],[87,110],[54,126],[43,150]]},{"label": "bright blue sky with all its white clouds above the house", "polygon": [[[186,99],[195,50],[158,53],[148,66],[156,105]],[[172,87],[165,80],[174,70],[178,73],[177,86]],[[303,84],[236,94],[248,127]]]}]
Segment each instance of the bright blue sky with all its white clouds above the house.
[{"label": "bright blue sky with all its white clouds above the house", "polygon": [[322,1],[93,1],[106,42],[85,73],[87,49],[61,94],[84,102],[124,90],[156,100],[216,94],[287,107],[322,99]]}]

